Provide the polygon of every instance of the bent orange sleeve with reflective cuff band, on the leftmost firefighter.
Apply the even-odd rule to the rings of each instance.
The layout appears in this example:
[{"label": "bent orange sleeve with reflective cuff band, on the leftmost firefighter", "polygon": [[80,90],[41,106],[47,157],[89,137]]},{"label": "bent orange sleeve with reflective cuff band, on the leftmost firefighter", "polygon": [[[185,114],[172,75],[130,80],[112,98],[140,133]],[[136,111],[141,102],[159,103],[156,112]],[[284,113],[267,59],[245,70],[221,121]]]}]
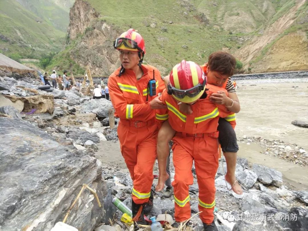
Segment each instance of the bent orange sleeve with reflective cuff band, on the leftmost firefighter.
[{"label": "bent orange sleeve with reflective cuff band, on the leftmost firefighter", "polygon": [[108,79],[108,88],[112,105],[115,108],[115,113],[120,119],[143,121],[145,115],[152,112],[153,109],[151,109],[150,102],[145,102],[142,104],[127,104],[125,98],[123,97],[122,90],[112,77]]}]

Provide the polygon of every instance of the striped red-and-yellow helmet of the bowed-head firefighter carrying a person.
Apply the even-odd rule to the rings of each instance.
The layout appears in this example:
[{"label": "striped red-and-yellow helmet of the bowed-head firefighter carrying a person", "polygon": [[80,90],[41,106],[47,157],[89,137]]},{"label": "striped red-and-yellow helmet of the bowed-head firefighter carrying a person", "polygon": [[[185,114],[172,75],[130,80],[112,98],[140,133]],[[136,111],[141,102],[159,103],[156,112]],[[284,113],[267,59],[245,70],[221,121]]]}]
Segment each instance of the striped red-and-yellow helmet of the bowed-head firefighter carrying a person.
[{"label": "striped red-and-yellow helmet of the bowed-head firefighter carrying a person", "polygon": [[205,85],[202,68],[195,62],[182,60],[170,73],[168,93],[178,101],[191,103],[202,96]]}]

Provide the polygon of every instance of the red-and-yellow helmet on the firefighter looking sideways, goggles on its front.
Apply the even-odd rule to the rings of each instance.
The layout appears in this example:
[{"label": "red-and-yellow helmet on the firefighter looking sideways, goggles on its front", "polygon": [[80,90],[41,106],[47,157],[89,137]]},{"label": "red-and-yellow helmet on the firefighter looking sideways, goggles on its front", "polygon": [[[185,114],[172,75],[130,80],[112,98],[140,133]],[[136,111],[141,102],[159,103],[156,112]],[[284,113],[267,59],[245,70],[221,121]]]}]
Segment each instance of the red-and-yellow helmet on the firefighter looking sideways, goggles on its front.
[{"label": "red-and-yellow helmet on the firefighter looking sideways, goggles on its front", "polygon": [[115,49],[139,51],[143,52],[143,55],[145,55],[144,39],[134,29],[129,29],[122,33],[119,38],[114,41],[113,46]]}]

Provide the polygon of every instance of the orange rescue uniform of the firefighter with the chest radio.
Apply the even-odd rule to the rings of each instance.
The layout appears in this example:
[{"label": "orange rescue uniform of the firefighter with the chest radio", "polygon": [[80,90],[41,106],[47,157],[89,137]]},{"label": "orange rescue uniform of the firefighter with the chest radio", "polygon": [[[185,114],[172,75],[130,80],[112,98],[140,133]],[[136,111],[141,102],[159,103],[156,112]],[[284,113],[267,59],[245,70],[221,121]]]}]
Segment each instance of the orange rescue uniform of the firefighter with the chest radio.
[{"label": "orange rescue uniform of the firefighter with the chest radio", "polygon": [[[120,68],[108,79],[115,116],[120,118],[118,137],[121,153],[133,180],[132,199],[136,204],[148,202],[151,195],[158,123],[150,101],[158,95],[158,86],[164,86],[156,68],[144,64],[141,68],[144,75],[139,80],[130,69],[125,69],[121,76],[117,76]],[[153,78],[153,71],[156,96],[149,96],[148,82]]]}]

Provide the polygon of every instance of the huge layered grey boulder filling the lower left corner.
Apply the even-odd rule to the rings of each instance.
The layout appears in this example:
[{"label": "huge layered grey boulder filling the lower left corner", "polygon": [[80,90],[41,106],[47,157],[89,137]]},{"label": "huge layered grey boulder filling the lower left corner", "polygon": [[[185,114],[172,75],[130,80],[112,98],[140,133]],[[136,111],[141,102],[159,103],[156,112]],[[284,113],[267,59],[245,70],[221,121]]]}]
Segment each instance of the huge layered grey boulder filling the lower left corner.
[{"label": "huge layered grey boulder filling the lower left corner", "polygon": [[92,231],[105,220],[106,182],[102,163],[82,151],[69,152],[39,128],[0,118],[0,229],[50,231],[62,221],[83,184],[67,219],[78,230]]}]

